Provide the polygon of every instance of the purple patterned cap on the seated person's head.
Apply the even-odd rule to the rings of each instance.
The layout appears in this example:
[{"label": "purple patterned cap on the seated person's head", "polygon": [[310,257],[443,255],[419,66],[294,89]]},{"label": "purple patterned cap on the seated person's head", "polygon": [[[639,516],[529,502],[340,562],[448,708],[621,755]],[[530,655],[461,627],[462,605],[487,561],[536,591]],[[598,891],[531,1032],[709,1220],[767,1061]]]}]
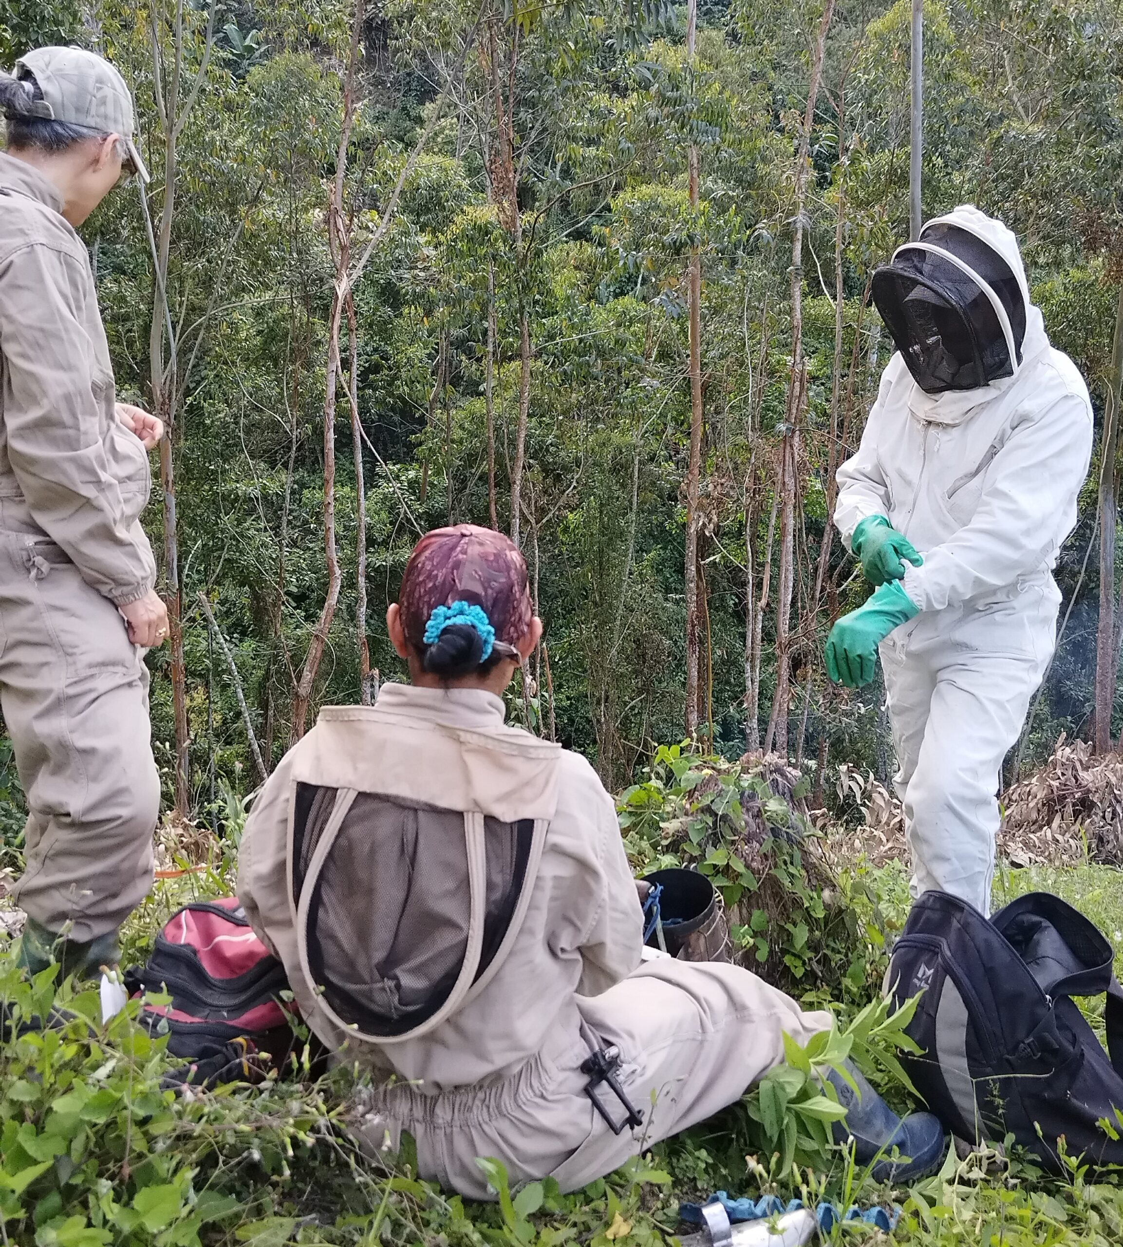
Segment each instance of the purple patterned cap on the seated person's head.
[{"label": "purple patterned cap on the seated person's head", "polygon": [[518,546],[502,532],[475,524],[426,532],[409,556],[398,594],[401,626],[415,650],[424,648],[432,611],[452,602],[481,607],[497,641],[521,641],[533,609]]}]

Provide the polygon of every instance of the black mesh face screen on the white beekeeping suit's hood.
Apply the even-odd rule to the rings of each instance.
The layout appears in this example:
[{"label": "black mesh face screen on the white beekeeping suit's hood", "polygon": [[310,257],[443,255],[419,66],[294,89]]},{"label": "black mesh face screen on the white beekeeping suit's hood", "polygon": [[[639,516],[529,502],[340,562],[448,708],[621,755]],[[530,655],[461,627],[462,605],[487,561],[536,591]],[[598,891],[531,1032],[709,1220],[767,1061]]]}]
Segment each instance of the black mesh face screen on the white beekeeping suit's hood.
[{"label": "black mesh face screen on the white beekeeping suit's hood", "polygon": [[993,304],[950,259],[905,248],[874,274],[872,296],[909,372],[926,393],[977,389],[1013,373]]}]

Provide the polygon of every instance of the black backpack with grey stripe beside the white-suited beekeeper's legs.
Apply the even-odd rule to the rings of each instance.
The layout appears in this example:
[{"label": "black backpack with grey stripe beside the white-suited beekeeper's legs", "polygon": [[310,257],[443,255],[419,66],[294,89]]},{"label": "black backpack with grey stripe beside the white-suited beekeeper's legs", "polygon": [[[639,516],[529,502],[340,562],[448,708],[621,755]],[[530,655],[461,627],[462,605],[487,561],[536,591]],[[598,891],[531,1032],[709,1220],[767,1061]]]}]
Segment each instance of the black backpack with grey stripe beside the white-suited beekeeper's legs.
[{"label": "black backpack with grey stripe beside the white-suited beekeeper's legs", "polygon": [[[945,1127],[971,1142],[1012,1135],[1051,1173],[1062,1156],[1123,1166],[1123,989],[1112,946],[1072,905],[1030,893],[987,920],[926,892],[894,945],[895,1003],[924,993],[902,1056]],[[1107,995],[1111,1056],[1073,996]],[[1117,1112],[1118,1109],[1118,1112]]]}]

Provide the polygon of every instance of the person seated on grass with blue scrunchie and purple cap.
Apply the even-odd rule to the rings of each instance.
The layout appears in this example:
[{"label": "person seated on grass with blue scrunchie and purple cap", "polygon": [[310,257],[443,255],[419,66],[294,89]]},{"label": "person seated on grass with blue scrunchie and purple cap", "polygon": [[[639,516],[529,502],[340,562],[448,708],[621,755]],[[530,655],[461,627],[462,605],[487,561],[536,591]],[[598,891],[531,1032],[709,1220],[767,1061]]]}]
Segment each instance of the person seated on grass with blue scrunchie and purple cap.
[{"label": "person seated on grass with blue scrunchie and purple cap", "polygon": [[[411,682],[322,711],[249,816],[238,895],[312,1030],[384,1075],[375,1109],[423,1177],[486,1198],[476,1158],[494,1156],[512,1185],[576,1190],[737,1101],[785,1031],[830,1026],[739,966],[641,961],[612,798],[583,757],[504,723],[542,632],[507,537],[428,534],[386,626]],[[607,1049],[623,1097],[596,1095],[617,1125],[636,1110],[621,1134],[586,1094]],[[879,1176],[942,1160],[934,1117],[831,1081],[860,1161],[911,1158]]]}]

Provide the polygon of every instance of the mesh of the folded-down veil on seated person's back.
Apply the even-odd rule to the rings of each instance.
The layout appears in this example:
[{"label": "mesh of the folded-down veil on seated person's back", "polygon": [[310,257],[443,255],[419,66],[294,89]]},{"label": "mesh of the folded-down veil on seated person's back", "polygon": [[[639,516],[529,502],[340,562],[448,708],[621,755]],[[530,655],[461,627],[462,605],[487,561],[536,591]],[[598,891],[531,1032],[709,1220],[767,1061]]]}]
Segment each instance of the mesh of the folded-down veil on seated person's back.
[{"label": "mesh of the folded-down veil on seated person's back", "polygon": [[[485,920],[476,978],[510,928],[532,835],[532,822],[485,819]],[[308,885],[309,969],[344,1023],[366,1035],[401,1035],[441,1008],[469,941],[464,814],[360,793]]]}]

